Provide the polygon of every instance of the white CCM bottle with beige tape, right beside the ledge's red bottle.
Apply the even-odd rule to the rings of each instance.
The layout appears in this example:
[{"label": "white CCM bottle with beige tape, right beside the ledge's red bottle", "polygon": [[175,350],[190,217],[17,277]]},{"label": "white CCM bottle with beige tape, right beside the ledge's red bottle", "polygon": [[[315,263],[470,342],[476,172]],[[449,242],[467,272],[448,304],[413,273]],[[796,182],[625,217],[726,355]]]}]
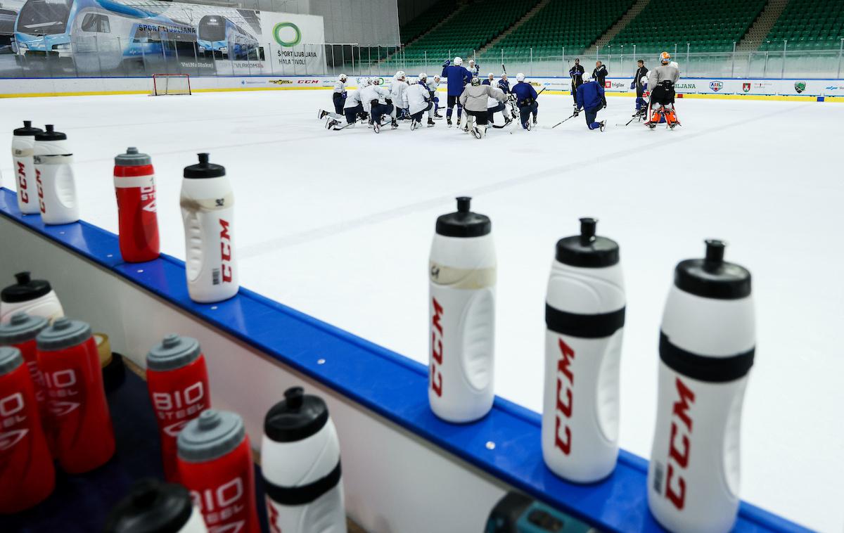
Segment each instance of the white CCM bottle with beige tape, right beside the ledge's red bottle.
[{"label": "white CCM bottle with beige tape, right beside the ledge's red bottle", "polygon": [[199,303],[219,302],[237,293],[233,244],[235,197],[225,168],[208,163],[185,167],[181,181],[181,218],[185,223],[187,292]]}]

